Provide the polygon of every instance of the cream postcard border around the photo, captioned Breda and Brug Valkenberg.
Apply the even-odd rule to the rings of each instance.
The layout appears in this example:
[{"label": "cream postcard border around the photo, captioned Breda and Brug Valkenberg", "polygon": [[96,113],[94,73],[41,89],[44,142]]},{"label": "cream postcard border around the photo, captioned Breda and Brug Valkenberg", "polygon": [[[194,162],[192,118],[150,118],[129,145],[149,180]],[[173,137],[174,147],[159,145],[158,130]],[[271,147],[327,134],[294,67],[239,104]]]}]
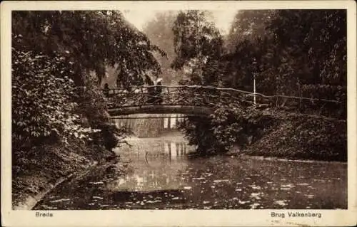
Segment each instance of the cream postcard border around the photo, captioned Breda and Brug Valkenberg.
[{"label": "cream postcard border around the photo, captioned Breda and Brug Valkenberg", "polygon": [[[348,210],[310,210],[322,218],[271,218],[271,210],[36,211],[11,210],[11,10],[348,9]],[[1,216],[4,226],[352,226],[356,197],[355,1],[7,1],[1,2]],[[274,210],[288,211],[303,210]]]}]

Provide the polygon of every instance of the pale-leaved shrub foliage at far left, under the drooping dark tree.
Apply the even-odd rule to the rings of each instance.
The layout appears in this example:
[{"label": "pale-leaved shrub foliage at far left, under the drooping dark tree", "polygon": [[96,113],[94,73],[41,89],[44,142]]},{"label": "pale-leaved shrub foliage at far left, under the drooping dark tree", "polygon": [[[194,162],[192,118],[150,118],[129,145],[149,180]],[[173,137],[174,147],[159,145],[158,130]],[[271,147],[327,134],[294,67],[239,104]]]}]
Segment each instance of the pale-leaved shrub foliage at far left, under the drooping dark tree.
[{"label": "pale-leaved shrub foliage at far left, under the drooping dark tree", "polygon": [[88,139],[90,127],[79,124],[72,102],[73,70],[66,58],[12,49],[13,144],[29,146],[44,137]]}]

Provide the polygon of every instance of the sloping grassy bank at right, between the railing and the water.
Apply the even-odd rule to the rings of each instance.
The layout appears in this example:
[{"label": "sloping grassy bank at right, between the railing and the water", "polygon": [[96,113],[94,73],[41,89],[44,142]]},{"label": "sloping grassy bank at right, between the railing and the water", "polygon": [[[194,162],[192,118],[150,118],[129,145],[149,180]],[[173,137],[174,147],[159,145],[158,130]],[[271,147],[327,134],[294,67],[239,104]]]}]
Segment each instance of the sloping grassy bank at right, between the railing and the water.
[{"label": "sloping grassy bank at right, between the railing and the water", "polygon": [[271,123],[241,153],[347,162],[347,123],[323,116],[271,114]]}]

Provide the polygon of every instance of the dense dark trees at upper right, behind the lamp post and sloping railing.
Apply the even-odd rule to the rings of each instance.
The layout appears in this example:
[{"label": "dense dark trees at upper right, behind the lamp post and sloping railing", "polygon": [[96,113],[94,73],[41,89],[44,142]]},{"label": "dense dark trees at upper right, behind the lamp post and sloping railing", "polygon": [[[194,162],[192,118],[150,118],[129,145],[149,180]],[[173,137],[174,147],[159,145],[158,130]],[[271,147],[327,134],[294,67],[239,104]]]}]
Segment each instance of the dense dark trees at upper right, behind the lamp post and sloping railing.
[{"label": "dense dark trees at upper right, behind the lamp post and sloping railing", "polygon": [[[331,100],[346,97],[344,10],[240,11],[227,43],[231,46],[225,56],[227,81],[233,80],[237,88],[252,90],[251,72],[256,71],[259,93]],[[251,67],[252,59],[259,65],[256,70]],[[341,109],[322,105],[332,115]]]}]

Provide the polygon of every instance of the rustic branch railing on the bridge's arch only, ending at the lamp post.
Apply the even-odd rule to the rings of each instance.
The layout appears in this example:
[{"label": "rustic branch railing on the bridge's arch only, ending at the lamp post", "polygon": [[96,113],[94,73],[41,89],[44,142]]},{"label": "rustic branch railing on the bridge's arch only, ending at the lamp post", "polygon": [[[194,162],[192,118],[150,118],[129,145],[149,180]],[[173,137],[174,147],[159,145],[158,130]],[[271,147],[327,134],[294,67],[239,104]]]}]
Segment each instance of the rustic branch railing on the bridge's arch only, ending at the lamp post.
[{"label": "rustic branch railing on the bridge's arch only, ending at the lamp post", "polygon": [[[161,93],[155,89],[161,88]],[[181,105],[213,107],[231,102],[251,102],[252,93],[203,86],[144,86],[104,90],[109,108],[144,105]]]}]

